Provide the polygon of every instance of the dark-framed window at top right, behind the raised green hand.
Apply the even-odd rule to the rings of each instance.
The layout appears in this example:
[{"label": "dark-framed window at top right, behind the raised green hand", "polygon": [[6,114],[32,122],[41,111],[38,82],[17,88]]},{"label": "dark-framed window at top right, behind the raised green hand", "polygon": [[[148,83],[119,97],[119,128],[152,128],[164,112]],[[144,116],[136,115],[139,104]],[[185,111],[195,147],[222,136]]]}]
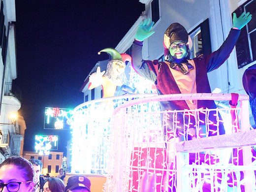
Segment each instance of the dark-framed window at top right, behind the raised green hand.
[{"label": "dark-framed window at top right, behind the raised green hand", "polygon": [[[247,0],[238,7],[234,13],[237,17],[244,11],[250,12],[252,18],[256,17],[256,0]],[[232,13],[233,14],[233,13]],[[236,58],[238,68],[256,61],[256,20],[252,19],[246,27],[241,30],[240,36],[236,43]]]}]

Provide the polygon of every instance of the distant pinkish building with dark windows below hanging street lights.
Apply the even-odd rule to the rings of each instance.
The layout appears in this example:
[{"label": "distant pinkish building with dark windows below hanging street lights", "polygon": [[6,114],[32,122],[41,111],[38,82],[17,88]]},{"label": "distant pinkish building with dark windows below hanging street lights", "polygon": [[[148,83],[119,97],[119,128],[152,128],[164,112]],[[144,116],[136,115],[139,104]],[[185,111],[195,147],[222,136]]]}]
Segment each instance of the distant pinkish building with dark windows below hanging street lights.
[{"label": "distant pinkish building with dark windows below hanging street lights", "polygon": [[49,173],[50,176],[55,177],[59,175],[59,169],[62,165],[63,152],[50,152],[49,155],[39,155],[35,152],[24,152],[23,157],[27,160],[41,160],[43,163],[42,174],[46,175]]}]

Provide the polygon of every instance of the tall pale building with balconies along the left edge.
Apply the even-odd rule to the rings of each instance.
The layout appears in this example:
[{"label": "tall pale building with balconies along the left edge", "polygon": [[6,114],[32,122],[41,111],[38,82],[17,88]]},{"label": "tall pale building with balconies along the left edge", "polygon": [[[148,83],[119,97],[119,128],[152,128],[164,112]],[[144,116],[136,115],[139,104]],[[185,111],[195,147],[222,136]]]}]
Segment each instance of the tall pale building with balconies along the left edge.
[{"label": "tall pale building with balconies along the left edge", "polygon": [[26,129],[23,117],[10,118],[21,107],[12,92],[12,80],[17,78],[15,21],[15,0],[0,0],[0,163],[22,154]]}]

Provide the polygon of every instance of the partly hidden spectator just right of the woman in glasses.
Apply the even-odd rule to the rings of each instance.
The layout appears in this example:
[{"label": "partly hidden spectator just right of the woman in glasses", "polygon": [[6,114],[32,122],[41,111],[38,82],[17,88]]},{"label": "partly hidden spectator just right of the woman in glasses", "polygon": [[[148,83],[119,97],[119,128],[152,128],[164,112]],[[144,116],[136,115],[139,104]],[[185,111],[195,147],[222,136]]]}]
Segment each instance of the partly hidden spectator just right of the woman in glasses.
[{"label": "partly hidden spectator just right of the woman in glasses", "polygon": [[34,180],[34,189],[33,192],[42,192],[43,191],[43,185],[44,185],[44,179],[40,177],[43,164],[40,160],[37,159],[31,159],[29,160],[33,167],[34,167],[34,173],[35,173],[35,180]]}]

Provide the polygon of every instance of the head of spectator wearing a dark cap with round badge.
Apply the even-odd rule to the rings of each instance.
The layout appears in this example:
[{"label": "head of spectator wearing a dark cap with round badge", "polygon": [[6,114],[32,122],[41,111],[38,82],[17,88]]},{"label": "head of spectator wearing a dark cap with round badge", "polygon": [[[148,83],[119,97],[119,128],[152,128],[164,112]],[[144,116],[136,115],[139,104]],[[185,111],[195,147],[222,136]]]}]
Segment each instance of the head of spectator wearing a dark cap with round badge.
[{"label": "head of spectator wearing a dark cap with round badge", "polygon": [[91,181],[82,175],[69,177],[65,192],[91,192]]}]

